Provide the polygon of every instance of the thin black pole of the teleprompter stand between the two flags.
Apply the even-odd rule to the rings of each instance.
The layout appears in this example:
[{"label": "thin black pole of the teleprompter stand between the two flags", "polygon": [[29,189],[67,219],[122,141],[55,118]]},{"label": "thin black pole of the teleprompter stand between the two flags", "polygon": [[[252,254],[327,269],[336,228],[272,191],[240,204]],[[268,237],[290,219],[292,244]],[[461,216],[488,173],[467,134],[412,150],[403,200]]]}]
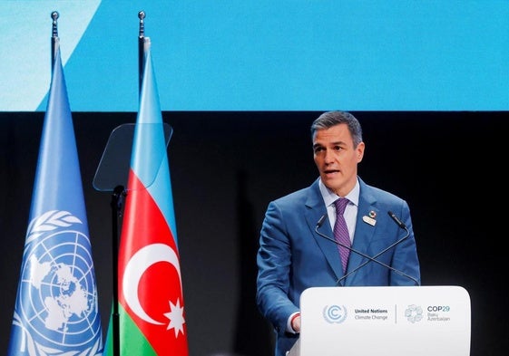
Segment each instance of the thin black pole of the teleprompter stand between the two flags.
[{"label": "thin black pole of the teleprompter stand between the two flags", "polygon": [[123,186],[117,186],[112,194],[112,261],[113,261],[113,310],[112,310],[112,338],[113,338],[113,356],[120,356],[120,326],[119,326],[119,306],[118,306],[118,250],[119,250],[119,222],[122,218],[122,197],[126,193]]}]

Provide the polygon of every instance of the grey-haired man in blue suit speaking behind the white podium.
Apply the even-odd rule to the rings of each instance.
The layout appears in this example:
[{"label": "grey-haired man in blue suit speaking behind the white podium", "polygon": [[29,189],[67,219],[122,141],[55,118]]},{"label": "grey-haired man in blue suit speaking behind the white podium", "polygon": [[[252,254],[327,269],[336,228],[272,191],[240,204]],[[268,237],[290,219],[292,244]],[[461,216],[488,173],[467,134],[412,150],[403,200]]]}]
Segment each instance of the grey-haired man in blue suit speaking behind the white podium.
[{"label": "grey-haired man in blue suit speaking behind the white podium", "polygon": [[[276,356],[299,339],[305,289],[420,284],[406,201],[357,176],[365,149],[358,120],[346,111],[324,112],[312,123],[311,137],[319,178],[271,201],[259,237],[257,304],[276,332]],[[333,237],[340,197],[349,200],[343,214],[351,244],[345,271],[341,243]]]}]

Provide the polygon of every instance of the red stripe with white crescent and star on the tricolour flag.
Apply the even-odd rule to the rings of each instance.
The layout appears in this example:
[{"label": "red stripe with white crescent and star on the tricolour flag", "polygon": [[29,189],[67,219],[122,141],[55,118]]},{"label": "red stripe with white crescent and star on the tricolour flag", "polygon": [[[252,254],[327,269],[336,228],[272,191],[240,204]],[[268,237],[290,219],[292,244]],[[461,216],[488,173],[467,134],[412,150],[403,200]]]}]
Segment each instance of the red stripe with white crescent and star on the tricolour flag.
[{"label": "red stripe with white crescent and star on the tricolour flag", "polygon": [[119,303],[158,355],[187,355],[178,248],[161,210],[132,171],[122,224]]}]

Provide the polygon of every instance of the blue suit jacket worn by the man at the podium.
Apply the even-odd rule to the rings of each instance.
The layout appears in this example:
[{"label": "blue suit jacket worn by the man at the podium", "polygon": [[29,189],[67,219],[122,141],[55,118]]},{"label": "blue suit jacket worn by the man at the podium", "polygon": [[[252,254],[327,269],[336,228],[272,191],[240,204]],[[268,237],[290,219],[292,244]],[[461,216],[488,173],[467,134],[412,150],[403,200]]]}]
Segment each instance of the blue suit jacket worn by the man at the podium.
[{"label": "blue suit jacket worn by the man at the podium", "polygon": [[[352,248],[375,256],[408,235],[401,243],[379,255],[377,260],[412,276],[420,284],[416,241],[406,201],[370,187],[360,178],[359,183],[357,226]],[[406,225],[408,234],[387,214],[388,211]],[[376,214],[375,225],[363,220],[363,216],[370,212]],[[416,285],[412,278],[372,261],[341,279],[344,274],[337,245],[315,231],[318,220],[324,215],[327,216],[327,208],[318,188],[318,179],[308,188],[270,202],[267,208],[257,255],[257,304],[260,313],[272,323],[277,333],[277,356],[285,355],[299,338],[299,335],[286,332],[286,328],[289,315],[299,311],[300,294],[305,289],[316,286]],[[327,218],[318,231],[333,238]],[[369,260],[362,255],[350,253],[347,274],[366,261]]]}]

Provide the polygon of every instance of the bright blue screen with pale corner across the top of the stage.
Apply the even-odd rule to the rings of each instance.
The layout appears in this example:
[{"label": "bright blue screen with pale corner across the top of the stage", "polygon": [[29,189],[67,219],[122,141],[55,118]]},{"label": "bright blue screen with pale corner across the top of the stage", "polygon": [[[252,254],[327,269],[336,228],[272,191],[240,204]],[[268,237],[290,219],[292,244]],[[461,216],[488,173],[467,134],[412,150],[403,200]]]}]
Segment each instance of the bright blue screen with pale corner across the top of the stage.
[{"label": "bright blue screen with pale corner across the top of the stage", "polygon": [[509,1],[2,1],[0,111],[44,111],[50,14],[73,111],[507,111]]}]

